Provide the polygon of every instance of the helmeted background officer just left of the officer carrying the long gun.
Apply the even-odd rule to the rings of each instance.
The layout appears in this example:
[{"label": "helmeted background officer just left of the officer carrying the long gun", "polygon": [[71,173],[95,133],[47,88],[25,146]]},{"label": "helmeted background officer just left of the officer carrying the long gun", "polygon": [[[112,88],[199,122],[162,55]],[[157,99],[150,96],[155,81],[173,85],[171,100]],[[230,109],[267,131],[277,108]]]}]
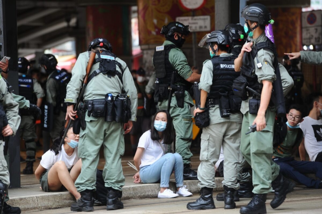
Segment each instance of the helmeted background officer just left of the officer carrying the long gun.
[{"label": "helmeted background officer just left of the officer carrying the long gun", "polygon": [[44,54],[40,59],[41,66],[49,75],[46,82],[46,101],[50,114],[48,124],[52,127],[49,131],[53,141],[59,138],[59,132],[65,124],[67,106],[64,98],[66,97],[66,86],[70,81],[70,75],[67,72],[56,69],[57,63],[56,57],[52,54]]}]

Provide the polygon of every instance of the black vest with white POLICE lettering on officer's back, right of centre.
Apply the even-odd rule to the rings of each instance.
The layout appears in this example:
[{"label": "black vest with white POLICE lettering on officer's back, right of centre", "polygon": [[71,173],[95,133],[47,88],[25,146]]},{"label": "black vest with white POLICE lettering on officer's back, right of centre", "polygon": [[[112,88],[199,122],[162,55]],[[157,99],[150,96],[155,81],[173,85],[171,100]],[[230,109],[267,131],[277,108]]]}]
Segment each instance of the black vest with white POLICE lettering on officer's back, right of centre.
[{"label": "black vest with white POLICE lettering on officer's back, right of centre", "polygon": [[232,92],[232,81],[240,75],[239,72],[235,71],[235,59],[234,56],[215,56],[211,59],[213,63],[213,84],[210,87],[209,98],[217,98],[219,89]]}]

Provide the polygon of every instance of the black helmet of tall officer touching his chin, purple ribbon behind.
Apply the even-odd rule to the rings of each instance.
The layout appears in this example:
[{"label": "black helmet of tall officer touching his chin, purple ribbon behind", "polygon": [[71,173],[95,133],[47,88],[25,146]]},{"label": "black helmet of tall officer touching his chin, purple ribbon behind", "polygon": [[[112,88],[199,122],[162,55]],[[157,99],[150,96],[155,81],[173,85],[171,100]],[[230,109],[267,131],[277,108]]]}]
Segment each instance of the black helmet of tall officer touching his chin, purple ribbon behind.
[{"label": "black helmet of tall officer touching his chin, purple ribbon behind", "polygon": [[243,18],[253,22],[257,22],[259,25],[266,25],[271,20],[270,11],[262,4],[251,4],[242,9]]}]

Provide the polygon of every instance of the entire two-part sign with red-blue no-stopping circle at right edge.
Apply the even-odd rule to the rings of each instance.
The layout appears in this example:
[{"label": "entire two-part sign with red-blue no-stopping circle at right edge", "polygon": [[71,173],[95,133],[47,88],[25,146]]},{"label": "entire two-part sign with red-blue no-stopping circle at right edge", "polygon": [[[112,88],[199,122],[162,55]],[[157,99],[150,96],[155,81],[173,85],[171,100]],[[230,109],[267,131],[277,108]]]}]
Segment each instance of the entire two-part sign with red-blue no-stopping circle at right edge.
[{"label": "entire two-part sign with red-blue no-stopping circle at right edge", "polygon": [[302,12],[302,44],[322,44],[322,10]]}]

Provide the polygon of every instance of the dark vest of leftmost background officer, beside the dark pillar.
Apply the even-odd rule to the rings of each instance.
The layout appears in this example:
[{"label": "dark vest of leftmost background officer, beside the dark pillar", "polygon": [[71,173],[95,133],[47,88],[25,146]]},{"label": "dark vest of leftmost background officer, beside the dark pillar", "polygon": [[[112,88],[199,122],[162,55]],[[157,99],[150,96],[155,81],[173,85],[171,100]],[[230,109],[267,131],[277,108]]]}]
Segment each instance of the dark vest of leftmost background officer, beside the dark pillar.
[{"label": "dark vest of leftmost background officer, beside the dark pillar", "polygon": [[33,93],[33,78],[29,75],[19,75],[19,95],[25,97],[32,104],[36,104],[36,97]]}]

